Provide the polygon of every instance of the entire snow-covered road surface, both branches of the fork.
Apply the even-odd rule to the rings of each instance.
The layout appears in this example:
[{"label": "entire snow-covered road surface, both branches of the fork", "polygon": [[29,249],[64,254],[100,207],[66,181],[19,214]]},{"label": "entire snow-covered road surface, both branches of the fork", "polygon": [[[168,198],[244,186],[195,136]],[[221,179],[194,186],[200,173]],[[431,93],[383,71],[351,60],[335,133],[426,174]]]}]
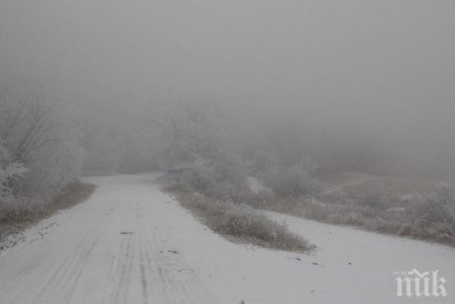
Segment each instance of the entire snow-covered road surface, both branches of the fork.
[{"label": "entire snow-covered road surface, both branches of the fork", "polygon": [[[0,303],[455,303],[455,250],[270,213],[319,247],[225,241],[159,191],[157,174],[87,179],[92,198],[0,255]],[[440,270],[445,298],[398,298],[394,271]],[[243,302],[242,302],[243,301]]]}]

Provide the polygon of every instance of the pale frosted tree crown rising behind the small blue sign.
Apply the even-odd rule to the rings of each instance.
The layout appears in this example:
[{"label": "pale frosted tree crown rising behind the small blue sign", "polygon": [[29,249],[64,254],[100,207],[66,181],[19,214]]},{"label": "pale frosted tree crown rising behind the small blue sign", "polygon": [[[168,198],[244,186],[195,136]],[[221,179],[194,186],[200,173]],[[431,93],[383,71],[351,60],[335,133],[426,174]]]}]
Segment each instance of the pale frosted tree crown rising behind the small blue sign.
[{"label": "pale frosted tree crown rising behind the small blue sign", "polygon": [[162,168],[210,160],[238,150],[228,118],[213,104],[166,103],[156,105],[145,121]]}]

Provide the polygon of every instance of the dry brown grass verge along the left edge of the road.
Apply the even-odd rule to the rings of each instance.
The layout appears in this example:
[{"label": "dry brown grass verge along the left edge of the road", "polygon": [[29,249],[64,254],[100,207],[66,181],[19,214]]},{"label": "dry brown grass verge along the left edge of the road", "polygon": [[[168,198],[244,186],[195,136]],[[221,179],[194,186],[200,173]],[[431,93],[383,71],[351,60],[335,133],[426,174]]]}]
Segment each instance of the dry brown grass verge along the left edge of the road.
[{"label": "dry brown grass verge along the left edge of the road", "polygon": [[[19,234],[27,227],[52,216],[52,214],[55,214],[59,210],[67,209],[86,201],[90,198],[96,187],[96,185],[90,183],[75,182],[68,185],[62,194],[57,196],[52,203],[45,207],[20,207],[8,214],[3,214],[0,219],[0,243],[5,241],[11,234]],[[0,245],[1,249],[3,249],[2,245]]]}]

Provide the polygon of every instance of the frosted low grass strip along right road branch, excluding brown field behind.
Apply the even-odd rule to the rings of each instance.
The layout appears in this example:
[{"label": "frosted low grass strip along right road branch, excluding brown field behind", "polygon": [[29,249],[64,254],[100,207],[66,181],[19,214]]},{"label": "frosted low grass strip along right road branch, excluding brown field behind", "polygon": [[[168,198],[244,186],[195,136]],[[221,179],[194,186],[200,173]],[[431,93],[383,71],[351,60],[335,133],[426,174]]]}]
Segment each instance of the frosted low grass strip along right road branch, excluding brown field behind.
[{"label": "frosted low grass strip along right road branch, excluding brown field behind", "polygon": [[455,196],[445,186],[405,199],[384,195],[347,199],[338,194],[330,201],[270,199],[265,207],[323,223],[455,246]]}]

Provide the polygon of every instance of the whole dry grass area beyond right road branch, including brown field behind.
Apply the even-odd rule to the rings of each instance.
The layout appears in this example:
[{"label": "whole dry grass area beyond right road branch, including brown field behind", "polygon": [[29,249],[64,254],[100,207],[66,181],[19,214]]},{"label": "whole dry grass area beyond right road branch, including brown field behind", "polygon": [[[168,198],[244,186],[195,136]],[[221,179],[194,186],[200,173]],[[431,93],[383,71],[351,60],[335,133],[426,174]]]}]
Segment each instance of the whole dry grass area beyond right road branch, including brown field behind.
[{"label": "whole dry grass area beyond right road branch, including brown field behind", "polygon": [[[455,189],[447,192],[436,181],[366,177],[362,183],[323,192],[313,199],[280,199],[263,194],[244,201],[257,208],[322,223],[455,247]],[[359,174],[334,176],[326,188],[364,178]]]}]

